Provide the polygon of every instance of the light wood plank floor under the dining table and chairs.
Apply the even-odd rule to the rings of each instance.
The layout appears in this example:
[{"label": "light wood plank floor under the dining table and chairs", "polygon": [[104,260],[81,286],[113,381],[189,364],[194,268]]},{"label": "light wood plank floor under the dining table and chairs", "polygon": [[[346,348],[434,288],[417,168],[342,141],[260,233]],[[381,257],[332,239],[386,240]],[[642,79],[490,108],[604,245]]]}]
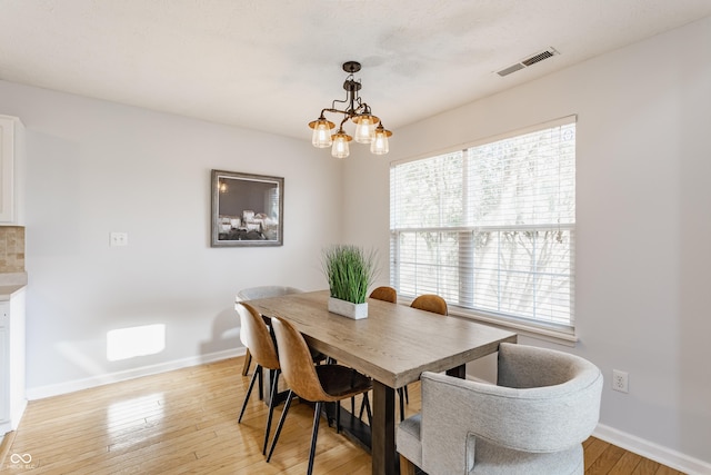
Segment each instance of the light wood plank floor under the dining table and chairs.
[{"label": "light wood plank floor under the dining table and chairs", "polygon": [[[30,402],[0,448],[0,475],[306,473],[312,408],[292,405],[266,463],[257,389],[237,423],[249,383],[241,368],[232,358]],[[409,387],[408,415],[420,405],[419,386]],[[680,473],[593,437],[584,449],[587,474]],[[314,473],[370,474],[370,455],[321,424]]]}]

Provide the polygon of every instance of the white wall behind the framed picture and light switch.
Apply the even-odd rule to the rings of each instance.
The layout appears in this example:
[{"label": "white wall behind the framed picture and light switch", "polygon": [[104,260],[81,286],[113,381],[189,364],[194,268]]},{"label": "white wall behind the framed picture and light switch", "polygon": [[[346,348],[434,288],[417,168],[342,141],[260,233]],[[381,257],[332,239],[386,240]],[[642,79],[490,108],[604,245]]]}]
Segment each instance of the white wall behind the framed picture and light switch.
[{"label": "white wall behind the framed picture and light switch", "polygon": [[[233,355],[238,289],[326,286],[341,167],[308,138],[2,81],[0,109],[27,128],[30,396]],[[284,177],[282,247],[210,247],[211,169]],[[163,352],[107,360],[107,331],[149,324],[166,324]]]}]

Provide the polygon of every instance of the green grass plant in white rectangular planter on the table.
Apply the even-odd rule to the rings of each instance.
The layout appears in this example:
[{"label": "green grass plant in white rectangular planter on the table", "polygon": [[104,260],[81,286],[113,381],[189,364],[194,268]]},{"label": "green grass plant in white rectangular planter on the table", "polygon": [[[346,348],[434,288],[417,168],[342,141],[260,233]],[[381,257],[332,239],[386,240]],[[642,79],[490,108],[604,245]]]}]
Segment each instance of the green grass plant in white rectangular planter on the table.
[{"label": "green grass plant in white rectangular planter on the table", "polygon": [[375,278],[375,253],[353,245],[323,249],[323,273],[329,281],[329,311],[349,318],[368,317],[368,288]]}]

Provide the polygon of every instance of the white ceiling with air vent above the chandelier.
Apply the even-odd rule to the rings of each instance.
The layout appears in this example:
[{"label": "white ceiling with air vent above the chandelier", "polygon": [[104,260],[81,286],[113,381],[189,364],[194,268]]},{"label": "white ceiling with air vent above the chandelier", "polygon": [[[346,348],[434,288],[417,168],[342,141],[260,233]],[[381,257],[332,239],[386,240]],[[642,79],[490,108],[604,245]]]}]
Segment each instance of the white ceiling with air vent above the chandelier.
[{"label": "white ceiling with air vent above the chandelier", "polygon": [[357,60],[397,133],[708,16],[710,0],[0,0],[0,79],[307,139]]}]

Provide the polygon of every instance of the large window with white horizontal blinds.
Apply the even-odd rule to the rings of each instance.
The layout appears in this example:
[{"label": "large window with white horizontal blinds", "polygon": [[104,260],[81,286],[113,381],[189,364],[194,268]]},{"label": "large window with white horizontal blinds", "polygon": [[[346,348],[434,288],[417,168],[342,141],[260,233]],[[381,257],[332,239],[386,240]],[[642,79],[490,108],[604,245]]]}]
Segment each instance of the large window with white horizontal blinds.
[{"label": "large window with white horizontal blinds", "polygon": [[395,162],[390,207],[391,285],[401,295],[572,328],[574,118]]}]

